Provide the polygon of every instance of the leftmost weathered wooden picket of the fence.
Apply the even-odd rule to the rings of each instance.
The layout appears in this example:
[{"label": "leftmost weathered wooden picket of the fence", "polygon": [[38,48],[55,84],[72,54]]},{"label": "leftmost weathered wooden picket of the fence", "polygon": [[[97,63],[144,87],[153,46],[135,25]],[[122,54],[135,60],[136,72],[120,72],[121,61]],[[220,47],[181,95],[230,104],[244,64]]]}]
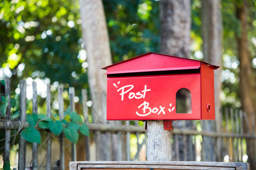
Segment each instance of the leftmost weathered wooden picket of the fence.
[{"label": "leftmost weathered wooden picket of the fence", "polygon": [[[10,120],[10,108],[11,108],[11,102],[10,102],[10,86],[11,79],[9,77],[5,77],[5,97],[8,98],[8,106],[6,108],[5,112],[5,120]],[[9,124],[9,122],[6,122]],[[4,151],[4,163],[10,163],[10,129],[5,130],[5,151]]]}]

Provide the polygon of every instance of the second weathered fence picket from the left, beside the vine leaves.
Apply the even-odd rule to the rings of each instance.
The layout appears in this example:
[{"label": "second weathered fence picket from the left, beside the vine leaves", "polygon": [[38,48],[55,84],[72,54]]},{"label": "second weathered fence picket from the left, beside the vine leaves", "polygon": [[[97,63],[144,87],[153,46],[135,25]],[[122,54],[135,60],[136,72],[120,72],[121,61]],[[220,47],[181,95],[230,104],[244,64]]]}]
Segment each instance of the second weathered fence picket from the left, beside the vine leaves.
[{"label": "second weathered fence picket from the left, beside the vine leaves", "polygon": [[[26,80],[20,80],[20,121],[26,121],[27,98]],[[18,169],[25,170],[26,166],[26,140],[20,135]]]}]

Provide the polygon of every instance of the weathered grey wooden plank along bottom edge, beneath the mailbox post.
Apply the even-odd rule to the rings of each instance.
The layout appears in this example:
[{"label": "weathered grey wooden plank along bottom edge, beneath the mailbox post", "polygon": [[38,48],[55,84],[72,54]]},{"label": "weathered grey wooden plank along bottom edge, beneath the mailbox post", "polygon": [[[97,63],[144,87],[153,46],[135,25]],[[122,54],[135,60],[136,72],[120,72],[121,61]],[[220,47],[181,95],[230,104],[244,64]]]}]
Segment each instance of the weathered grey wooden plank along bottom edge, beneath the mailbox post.
[{"label": "weathered grey wooden plank along bottom edge, beneath the mailbox post", "polygon": [[69,170],[82,170],[83,168],[133,168],[133,169],[190,169],[190,170],[249,170],[248,163],[222,163],[222,162],[196,162],[196,161],[78,161],[70,162]]}]

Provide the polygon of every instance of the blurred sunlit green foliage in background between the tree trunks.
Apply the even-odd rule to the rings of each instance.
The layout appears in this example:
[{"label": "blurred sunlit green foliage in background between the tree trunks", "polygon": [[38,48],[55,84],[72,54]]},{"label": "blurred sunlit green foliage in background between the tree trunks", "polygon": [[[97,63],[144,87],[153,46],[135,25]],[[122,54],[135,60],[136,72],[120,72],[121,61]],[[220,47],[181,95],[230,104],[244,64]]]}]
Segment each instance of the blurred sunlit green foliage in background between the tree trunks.
[{"label": "blurred sunlit green foliage in background between the tree trunks", "polygon": [[[102,2],[114,63],[148,51],[159,52],[159,1]],[[236,18],[236,4],[239,3],[242,1],[221,1],[223,90],[220,96],[223,105],[236,107],[241,106],[236,45],[236,37],[240,36],[240,23]],[[248,7],[249,51],[253,60],[256,58],[256,1],[248,0]],[[200,9],[201,1],[191,0],[190,50],[191,57],[197,60],[203,60]],[[11,71],[12,88],[17,87],[21,78],[49,78],[51,83],[62,83],[65,89],[75,87],[81,96],[80,89],[88,89],[88,63],[84,57],[81,23],[78,0],[3,0],[0,3],[0,69]]]}]

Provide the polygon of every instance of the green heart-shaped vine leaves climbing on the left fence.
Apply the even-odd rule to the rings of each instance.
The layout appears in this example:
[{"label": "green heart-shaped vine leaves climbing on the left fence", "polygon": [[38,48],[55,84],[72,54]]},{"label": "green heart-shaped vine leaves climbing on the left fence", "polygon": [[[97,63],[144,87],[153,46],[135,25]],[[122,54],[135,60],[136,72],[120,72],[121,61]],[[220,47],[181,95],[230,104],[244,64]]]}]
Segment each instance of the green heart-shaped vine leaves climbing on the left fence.
[{"label": "green heart-shaped vine leaves climbing on the left fence", "polygon": [[[6,109],[8,106],[8,97],[4,95],[5,81],[0,81],[0,118],[6,117]],[[11,97],[11,120],[19,117],[19,95],[15,94],[15,97]],[[44,114],[27,113],[26,121],[29,127],[22,130],[21,136],[32,143],[41,143],[41,134],[37,130],[45,129],[50,130],[54,135],[59,135],[64,132],[65,137],[72,143],[77,143],[79,132],[83,135],[89,135],[89,129],[86,124],[83,123],[82,117],[76,112],[71,112],[68,108],[64,112],[64,119],[59,120],[58,115],[54,115],[51,118]]]}]

